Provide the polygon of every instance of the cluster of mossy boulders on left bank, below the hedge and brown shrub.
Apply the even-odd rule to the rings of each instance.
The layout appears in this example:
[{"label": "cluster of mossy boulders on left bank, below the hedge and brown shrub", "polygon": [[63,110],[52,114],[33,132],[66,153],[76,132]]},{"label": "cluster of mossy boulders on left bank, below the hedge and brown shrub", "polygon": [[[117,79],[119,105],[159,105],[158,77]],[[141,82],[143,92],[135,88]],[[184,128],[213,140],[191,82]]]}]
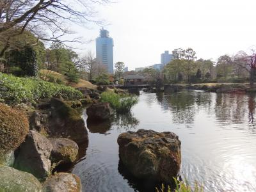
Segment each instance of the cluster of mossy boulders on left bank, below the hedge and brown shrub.
[{"label": "cluster of mossy boulders on left bank, below the hedge and brown shrub", "polygon": [[70,173],[52,174],[55,166],[76,162],[77,143],[88,143],[83,118],[61,99],[38,104],[29,117],[29,133],[15,150],[1,156],[0,191],[81,191]]}]

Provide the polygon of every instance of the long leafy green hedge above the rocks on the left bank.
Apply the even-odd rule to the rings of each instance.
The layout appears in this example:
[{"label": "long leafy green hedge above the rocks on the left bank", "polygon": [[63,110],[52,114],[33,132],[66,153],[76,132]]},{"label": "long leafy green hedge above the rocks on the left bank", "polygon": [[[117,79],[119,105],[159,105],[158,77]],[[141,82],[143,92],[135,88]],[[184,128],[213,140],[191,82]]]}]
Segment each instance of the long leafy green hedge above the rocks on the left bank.
[{"label": "long leafy green hedge above the rocks on the left bank", "polygon": [[63,99],[81,99],[83,94],[69,86],[0,73],[0,99],[8,104],[60,96]]}]

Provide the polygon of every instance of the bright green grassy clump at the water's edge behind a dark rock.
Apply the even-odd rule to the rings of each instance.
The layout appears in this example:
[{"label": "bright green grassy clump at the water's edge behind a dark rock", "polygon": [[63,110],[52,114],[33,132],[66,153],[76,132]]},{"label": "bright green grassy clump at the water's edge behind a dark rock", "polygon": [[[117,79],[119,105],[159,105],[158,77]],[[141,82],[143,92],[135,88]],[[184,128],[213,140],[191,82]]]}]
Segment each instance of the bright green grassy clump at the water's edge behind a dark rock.
[{"label": "bright green grassy clump at the water's edge behind a dark rock", "polygon": [[138,103],[138,97],[131,95],[118,95],[113,92],[103,92],[100,94],[100,101],[109,102],[113,109],[118,113],[127,113],[132,106]]}]

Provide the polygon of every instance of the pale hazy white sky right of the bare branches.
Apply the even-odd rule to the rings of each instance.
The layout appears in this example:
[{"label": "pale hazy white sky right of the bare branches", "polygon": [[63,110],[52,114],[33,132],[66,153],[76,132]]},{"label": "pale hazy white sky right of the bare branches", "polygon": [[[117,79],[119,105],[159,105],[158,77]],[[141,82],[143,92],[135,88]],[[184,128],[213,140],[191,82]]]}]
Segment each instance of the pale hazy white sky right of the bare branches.
[{"label": "pale hazy white sky right of the bare branches", "polygon": [[[114,62],[124,61],[129,70],[160,63],[162,52],[179,47],[216,60],[256,45],[255,0],[118,0],[98,10],[109,23]],[[99,29],[78,31],[88,40],[99,36]],[[83,48],[95,53],[95,41]]]}]

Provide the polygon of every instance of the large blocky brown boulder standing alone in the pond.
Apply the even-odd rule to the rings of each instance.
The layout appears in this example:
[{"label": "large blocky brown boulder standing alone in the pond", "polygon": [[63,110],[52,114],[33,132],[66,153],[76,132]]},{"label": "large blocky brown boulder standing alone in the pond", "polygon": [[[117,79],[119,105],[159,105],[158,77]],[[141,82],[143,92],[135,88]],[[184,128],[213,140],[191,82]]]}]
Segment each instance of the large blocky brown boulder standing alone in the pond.
[{"label": "large blocky brown boulder standing alone in the pond", "polygon": [[173,132],[140,129],[118,136],[120,160],[138,179],[170,182],[180,170],[180,140]]}]

